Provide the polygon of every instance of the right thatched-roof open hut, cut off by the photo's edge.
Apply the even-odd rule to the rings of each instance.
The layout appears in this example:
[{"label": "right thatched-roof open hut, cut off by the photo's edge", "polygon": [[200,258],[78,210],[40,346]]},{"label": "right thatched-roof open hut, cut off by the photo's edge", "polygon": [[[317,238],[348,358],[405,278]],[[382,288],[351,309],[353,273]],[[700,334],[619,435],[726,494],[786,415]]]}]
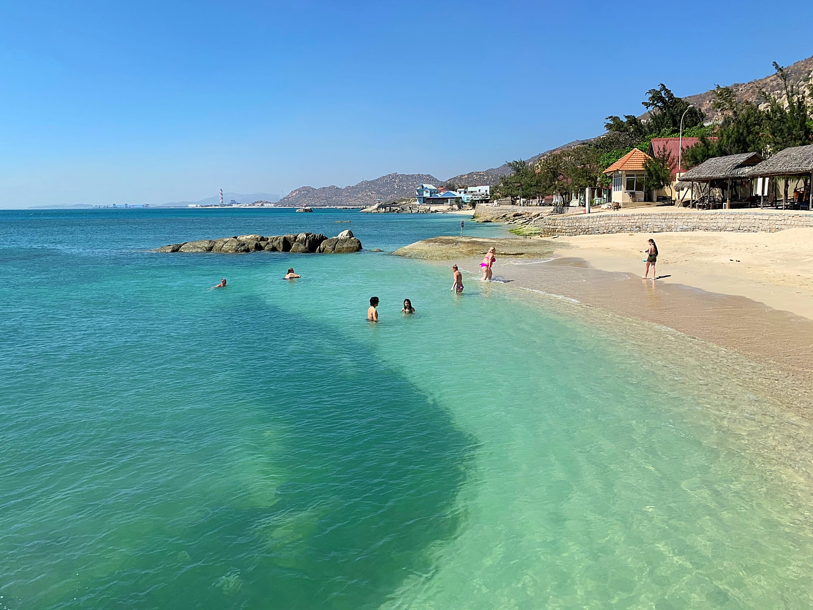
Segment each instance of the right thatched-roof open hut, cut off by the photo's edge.
[{"label": "right thatched-roof open hut, cut off by the photo's edge", "polygon": [[[758,179],[760,194],[767,193],[773,204],[785,207],[813,210],[813,145],[793,146],[780,150],[770,159],[751,168],[750,176]],[[779,198],[779,182],[783,182],[783,195]],[[767,181],[767,184],[764,182]],[[795,182],[793,195],[789,186]],[[801,189],[799,188],[801,184]]]}]

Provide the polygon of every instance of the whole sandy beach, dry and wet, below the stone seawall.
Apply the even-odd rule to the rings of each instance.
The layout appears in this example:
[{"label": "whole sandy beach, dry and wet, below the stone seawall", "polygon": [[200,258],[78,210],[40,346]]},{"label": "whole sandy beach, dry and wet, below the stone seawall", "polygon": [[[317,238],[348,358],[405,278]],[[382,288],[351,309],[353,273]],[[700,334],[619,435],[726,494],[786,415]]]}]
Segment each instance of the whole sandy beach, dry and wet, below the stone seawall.
[{"label": "whole sandy beach, dry and wet, below the stone seawall", "polygon": [[[661,251],[659,276],[665,277],[657,281],[641,279],[648,237],[517,238],[517,247],[547,247],[550,257],[501,257],[498,246],[493,285],[571,300],[736,352],[764,366],[777,392],[782,386],[780,393],[791,397],[797,388],[789,403],[798,403],[794,410],[813,418],[813,229],[658,233],[652,237]],[[421,242],[429,246],[424,250],[435,250],[428,243],[433,241]],[[433,264],[454,261],[471,275],[469,282],[479,279],[479,255],[454,248],[436,252],[437,257],[424,251],[420,258]]]}]

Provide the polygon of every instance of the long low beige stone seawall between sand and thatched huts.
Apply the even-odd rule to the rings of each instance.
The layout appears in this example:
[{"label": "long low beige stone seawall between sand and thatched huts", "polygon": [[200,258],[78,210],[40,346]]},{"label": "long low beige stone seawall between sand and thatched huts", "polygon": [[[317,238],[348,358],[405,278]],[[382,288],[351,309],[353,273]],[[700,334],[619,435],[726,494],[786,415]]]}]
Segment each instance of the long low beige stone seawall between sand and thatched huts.
[{"label": "long low beige stone seawall between sand and thatched huts", "polygon": [[544,237],[598,235],[602,233],[663,233],[671,231],[733,231],[760,233],[813,227],[810,212],[640,212],[637,214],[590,214],[539,216],[532,221]]}]

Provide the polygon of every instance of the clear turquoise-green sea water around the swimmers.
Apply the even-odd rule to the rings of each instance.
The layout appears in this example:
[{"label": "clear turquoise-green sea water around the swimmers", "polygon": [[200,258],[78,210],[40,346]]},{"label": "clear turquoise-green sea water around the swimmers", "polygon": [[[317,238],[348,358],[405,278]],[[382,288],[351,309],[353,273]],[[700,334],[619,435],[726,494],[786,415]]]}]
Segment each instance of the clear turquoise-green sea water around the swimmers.
[{"label": "clear turquoise-green sea water around the swimmers", "polygon": [[459,218],[0,212],[0,608],[813,606],[810,438],[736,371],[385,253],[149,252],[346,228]]}]

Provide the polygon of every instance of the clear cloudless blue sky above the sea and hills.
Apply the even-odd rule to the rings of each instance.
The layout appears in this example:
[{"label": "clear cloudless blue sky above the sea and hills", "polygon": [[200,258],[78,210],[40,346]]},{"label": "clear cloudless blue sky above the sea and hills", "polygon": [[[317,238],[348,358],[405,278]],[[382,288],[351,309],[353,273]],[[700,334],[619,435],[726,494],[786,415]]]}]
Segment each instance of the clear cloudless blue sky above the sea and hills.
[{"label": "clear cloudless blue sky above the sea and hills", "polygon": [[[280,193],[527,158],[813,54],[807,2],[6,2],[0,207]],[[764,38],[776,15],[777,36]],[[759,25],[763,24],[763,25]],[[803,28],[802,28],[803,29]]]}]

